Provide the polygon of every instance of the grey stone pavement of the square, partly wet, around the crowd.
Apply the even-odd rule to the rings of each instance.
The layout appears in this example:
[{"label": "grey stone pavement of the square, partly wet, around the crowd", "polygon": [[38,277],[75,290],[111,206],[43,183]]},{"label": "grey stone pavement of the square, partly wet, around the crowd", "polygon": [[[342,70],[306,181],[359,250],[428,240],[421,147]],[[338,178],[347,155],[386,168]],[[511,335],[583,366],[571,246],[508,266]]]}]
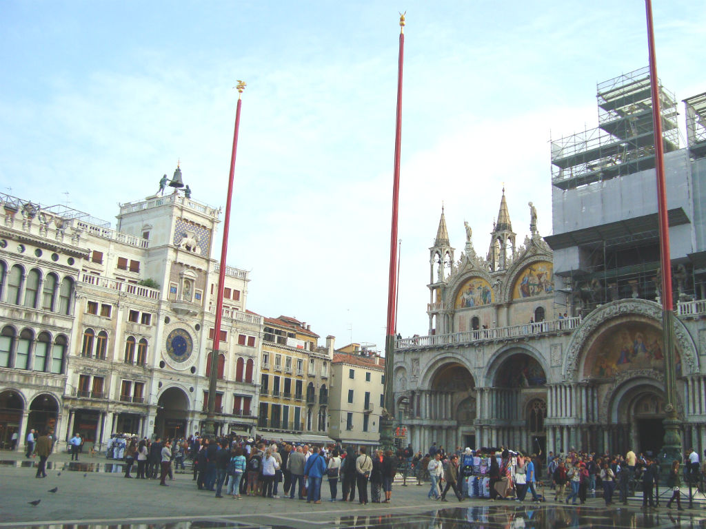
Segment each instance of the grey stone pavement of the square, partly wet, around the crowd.
[{"label": "grey stone pavement of the square, partly wet, around the crowd", "polygon": [[[606,509],[599,498],[589,499],[585,506],[458,502],[452,496],[449,503],[441,503],[426,498],[428,484],[402,487],[399,482],[389,505],[327,501],[326,483],[321,504],[259,497],[217,499],[213,492],[196,490],[188,473],[177,474],[169,487],[160,487],[156,480],[127,480],[121,473],[106,472],[119,466],[104,456],[85,456],[78,466],[68,460],[66,454],[52,455],[47,478],[36,479],[35,468],[21,454],[0,452],[0,528],[706,528],[702,504],[668,511],[666,500],[656,512],[641,511],[637,501],[627,508]],[[48,492],[54,487],[59,489],[56,493]],[[41,500],[37,506],[28,504],[36,499]]]}]

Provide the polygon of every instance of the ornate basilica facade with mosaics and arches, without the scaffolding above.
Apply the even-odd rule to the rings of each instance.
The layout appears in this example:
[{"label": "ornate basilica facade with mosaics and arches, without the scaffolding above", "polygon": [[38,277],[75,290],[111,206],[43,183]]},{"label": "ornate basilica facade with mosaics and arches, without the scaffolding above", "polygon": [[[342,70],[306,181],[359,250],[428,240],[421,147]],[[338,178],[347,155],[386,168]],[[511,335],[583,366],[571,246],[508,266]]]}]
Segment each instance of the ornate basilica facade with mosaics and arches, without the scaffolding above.
[{"label": "ornate basilica facade with mosaics and arches, without the scaffolding above", "polygon": [[[554,277],[537,232],[516,245],[504,190],[487,257],[455,256],[442,212],[430,248],[429,333],[397,339],[397,418],[415,450],[513,446],[527,452],[662,446],[662,307],[626,296],[583,303]],[[678,408],[685,448],[706,433],[706,302],[678,305]]]}]

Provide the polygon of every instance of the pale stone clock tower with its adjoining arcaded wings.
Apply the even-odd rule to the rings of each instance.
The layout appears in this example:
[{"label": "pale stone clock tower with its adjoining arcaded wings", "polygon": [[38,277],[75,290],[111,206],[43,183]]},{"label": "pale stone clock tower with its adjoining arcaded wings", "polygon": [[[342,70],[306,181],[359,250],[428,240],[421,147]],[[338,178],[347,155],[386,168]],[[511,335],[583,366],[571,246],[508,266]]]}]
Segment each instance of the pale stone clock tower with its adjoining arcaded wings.
[{"label": "pale stone clock tower with its adjoining arcaded wings", "polygon": [[[121,205],[110,229],[68,207],[0,198],[0,442],[29,427],[97,446],[115,432],[199,431],[219,210],[174,190]],[[246,310],[248,284],[248,272],[226,270],[220,432],[256,429],[263,318]]]}]

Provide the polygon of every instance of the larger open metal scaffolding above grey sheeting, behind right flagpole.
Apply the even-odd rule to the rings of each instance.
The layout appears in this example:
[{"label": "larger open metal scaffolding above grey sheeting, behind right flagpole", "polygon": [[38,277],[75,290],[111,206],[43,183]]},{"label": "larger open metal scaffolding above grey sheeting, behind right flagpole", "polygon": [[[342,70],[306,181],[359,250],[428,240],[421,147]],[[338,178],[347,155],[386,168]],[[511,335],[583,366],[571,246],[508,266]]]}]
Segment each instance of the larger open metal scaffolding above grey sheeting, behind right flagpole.
[{"label": "larger open metal scaffolding above grey sheeting, behind right flagpole", "polygon": [[[657,83],[664,152],[671,152],[679,148],[676,97]],[[599,126],[551,142],[551,182],[563,190],[654,168],[650,69],[598,83],[596,97]]]}]

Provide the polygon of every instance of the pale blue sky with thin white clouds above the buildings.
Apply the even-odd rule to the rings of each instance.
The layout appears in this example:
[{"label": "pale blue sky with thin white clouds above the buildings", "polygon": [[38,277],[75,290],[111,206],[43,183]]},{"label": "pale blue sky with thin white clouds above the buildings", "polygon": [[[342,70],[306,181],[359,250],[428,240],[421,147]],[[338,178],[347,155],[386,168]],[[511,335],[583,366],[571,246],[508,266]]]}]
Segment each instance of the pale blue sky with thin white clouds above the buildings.
[{"label": "pale blue sky with thin white clouds above the buildings", "polygon": [[[683,114],[706,90],[706,9],[653,4]],[[456,258],[464,221],[486,255],[503,185],[517,240],[530,200],[551,233],[549,140],[596,127],[596,83],[647,66],[644,2],[4,0],[0,192],[115,226],[180,161],[193,198],[225,209],[245,80],[227,262],[251,272],[247,308],[382,351],[398,11],[397,330],[424,336],[442,205]]]}]

